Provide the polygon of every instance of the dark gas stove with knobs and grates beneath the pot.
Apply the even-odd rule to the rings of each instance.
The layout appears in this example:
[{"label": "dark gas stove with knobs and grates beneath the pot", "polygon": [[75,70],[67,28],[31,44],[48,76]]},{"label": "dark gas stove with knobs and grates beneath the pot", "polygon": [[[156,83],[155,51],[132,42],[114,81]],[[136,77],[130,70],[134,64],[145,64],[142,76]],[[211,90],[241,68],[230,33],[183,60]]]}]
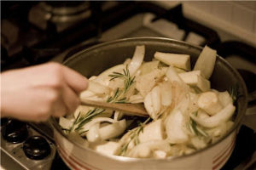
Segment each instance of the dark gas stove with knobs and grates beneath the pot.
[{"label": "dark gas stove with knobs and grates beneath the pot", "polygon": [[[250,93],[247,116],[236,147],[222,169],[255,168],[256,49],[245,42],[221,41],[218,31],[190,20],[183,5],[153,2],[2,2],[2,71],[62,63],[101,42],[125,37],[169,37],[208,45],[241,73]],[[1,166],[5,169],[68,169],[55,150],[48,122],[1,120]]]}]

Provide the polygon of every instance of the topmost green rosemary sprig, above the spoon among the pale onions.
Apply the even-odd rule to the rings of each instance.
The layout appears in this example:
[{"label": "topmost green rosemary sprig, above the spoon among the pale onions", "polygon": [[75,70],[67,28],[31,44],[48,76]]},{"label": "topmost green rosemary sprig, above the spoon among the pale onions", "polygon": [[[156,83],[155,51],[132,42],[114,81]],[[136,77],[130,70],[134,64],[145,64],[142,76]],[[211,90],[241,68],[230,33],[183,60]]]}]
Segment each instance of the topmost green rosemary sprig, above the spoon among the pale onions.
[{"label": "topmost green rosemary sprig, above the spoon among the pale onions", "polygon": [[126,91],[131,87],[131,84],[135,82],[134,81],[135,77],[131,77],[130,71],[128,69],[128,65],[126,65],[125,69],[123,69],[123,72],[124,73],[114,71],[113,74],[108,75],[108,77],[111,77],[110,81],[116,78],[123,78],[125,80],[125,87],[124,87],[124,94],[125,94]]}]

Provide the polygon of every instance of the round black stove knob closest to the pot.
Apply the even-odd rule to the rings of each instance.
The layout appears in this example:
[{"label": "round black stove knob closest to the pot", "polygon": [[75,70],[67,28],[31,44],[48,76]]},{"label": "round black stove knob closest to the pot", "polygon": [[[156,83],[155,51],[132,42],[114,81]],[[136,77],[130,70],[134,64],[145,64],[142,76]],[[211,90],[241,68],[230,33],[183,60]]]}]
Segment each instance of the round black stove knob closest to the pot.
[{"label": "round black stove knob closest to the pot", "polygon": [[26,139],[23,144],[23,151],[25,155],[32,160],[41,160],[49,156],[50,147],[46,139],[41,136],[32,136]]}]

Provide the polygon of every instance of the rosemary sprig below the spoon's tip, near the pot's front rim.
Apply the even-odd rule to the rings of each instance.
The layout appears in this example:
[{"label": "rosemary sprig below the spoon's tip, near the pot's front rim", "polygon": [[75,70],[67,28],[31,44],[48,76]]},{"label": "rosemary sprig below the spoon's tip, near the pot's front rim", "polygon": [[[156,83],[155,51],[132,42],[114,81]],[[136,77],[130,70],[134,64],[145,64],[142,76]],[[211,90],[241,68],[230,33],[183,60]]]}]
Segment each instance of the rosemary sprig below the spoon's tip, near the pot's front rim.
[{"label": "rosemary sprig below the spoon's tip, near the pot's front rim", "polygon": [[133,142],[135,145],[140,144],[140,140],[139,140],[139,134],[143,132],[143,128],[145,127],[145,125],[149,122],[150,117],[148,117],[148,119],[145,122],[138,122],[139,126],[132,129],[130,131],[130,140],[123,144],[121,147],[121,150],[119,151],[119,156],[125,156],[126,151],[128,149],[128,145]]}]

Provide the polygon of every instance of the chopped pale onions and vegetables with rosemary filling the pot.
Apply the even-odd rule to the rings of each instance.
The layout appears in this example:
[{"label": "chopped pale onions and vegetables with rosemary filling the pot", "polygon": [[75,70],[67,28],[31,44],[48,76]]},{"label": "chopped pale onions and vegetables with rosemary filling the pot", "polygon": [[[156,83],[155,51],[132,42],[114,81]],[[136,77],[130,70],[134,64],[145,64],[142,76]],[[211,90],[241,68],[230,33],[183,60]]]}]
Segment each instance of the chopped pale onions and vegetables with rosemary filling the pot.
[{"label": "chopped pale onions and vegetables with rosemary filling the pot", "polygon": [[108,155],[166,158],[201,150],[229,131],[236,95],[211,88],[215,50],[203,48],[191,70],[188,54],[155,52],[144,62],[145,48],[90,77],[80,98],[142,104],[148,117],[80,105],[59,120],[68,138]]}]

